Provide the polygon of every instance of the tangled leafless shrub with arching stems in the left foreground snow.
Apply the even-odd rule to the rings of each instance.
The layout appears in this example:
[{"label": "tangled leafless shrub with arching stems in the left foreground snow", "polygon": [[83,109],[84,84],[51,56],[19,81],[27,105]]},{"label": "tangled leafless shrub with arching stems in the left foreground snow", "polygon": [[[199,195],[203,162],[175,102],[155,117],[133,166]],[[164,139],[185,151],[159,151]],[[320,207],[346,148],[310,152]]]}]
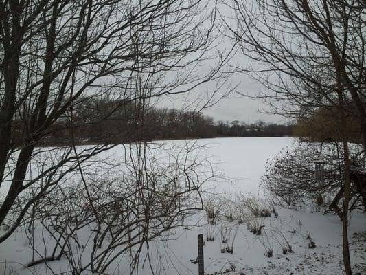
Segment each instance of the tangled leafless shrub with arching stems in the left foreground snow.
[{"label": "tangled leafless shrub with arching stems in the left foreground snow", "polygon": [[[114,173],[95,176],[94,167],[86,168],[83,179],[72,177],[34,203],[21,224],[33,251],[26,267],[47,263],[44,267],[52,272],[105,274],[122,268],[122,262],[132,274],[141,265],[163,264],[153,253],[148,255],[150,242],[171,235],[185,225],[187,216],[203,208],[203,185],[214,174],[194,144],[169,152],[132,146],[137,151],[123,166],[114,167]],[[138,156],[139,150],[144,157]],[[96,164],[98,159],[93,159]],[[32,199],[34,192],[36,187],[21,201]],[[21,212],[21,203],[14,211]],[[53,261],[62,264],[50,264]]]}]

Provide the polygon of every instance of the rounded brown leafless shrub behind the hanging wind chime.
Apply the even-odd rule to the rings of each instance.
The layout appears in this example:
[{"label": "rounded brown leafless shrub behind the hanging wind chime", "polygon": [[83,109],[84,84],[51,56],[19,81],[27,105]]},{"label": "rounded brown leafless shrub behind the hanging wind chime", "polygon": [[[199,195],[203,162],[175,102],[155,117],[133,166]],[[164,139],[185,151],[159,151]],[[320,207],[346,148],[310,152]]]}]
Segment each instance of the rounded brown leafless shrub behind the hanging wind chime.
[{"label": "rounded brown leafless shrub behind the hanging wind chime", "polygon": [[[294,148],[284,149],[275,157],[270,157],[266,163],[266,173],[261,178],[261,184],[275,195],[284,206],[302,206],[312,203],[314,206],[328,208],[331,201],[339,192],[341,181],[344,180],[343,159],[336,152],[333,144],[326,144],[320,155],[320,144],[303,142]],[[354,144],[351,155],[352,162],[361,165],[363,159],[360,155],[361,146]],[[324,181],[318,182],[315,178],[315,163],[322,161],[324,166]],[[339,170],[341,164],[341,171]],[[357,194],[356,190],[352,193]],[[326,201],[317,201],[319,195]],[[355,196],[354,205],[362,203],[362,198]],[[358,200],[358,201],[357,201]]]}]

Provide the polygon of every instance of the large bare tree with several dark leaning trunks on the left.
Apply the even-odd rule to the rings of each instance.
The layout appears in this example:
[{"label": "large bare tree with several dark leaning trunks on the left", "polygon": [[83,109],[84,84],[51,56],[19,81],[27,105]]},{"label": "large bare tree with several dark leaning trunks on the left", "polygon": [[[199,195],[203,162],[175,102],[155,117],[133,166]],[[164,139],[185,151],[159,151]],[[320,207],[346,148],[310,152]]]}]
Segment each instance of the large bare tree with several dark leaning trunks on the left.
[{"label": "large bare tree with several dark leaning trunks on the left", "polygon": [[[76,148],[83,100],[118,100],[104,117],[133,104],[141,124],[155,98],[210,82],[222,87],[230,52],[214,50],[215,21],[209,1],[0,1],[0,224],[9,225],[0,243],[49,190],[70,173],[84,177],[91,157],[115,146]],[[213,56],[211,69],[199,69]],[[216,91],[206,104],[217,100]],[[62,122],[64,129],[54,127]],[[69,133],[64,146],[45,147],[45,137],[60,131]],[[21,199],[27,190],[32,196]]]}]

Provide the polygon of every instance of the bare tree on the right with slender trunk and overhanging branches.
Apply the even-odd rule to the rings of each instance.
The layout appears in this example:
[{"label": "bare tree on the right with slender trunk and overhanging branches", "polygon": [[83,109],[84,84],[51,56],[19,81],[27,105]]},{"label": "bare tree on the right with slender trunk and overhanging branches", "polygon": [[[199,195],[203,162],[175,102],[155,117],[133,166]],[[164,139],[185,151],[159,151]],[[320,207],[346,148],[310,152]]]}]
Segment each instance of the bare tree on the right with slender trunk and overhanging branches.
[{"label": "bare tree on the right with slender trunk and overhanging branches", "polygon": [[[346,117],[361,123],[366,148],[365,1],[255,1],[228,4],[236,17],[227,19],[231,35],[253,63],[243,68],[266,91],[260,94],[274,111],[311,115],[320,107],[339,109],[344,151],[343,256],[352,274],[347,249],[350,160]],[[238,28],[232,27],[232,21]],[[275,102],[279,102],[276,104]]]}]

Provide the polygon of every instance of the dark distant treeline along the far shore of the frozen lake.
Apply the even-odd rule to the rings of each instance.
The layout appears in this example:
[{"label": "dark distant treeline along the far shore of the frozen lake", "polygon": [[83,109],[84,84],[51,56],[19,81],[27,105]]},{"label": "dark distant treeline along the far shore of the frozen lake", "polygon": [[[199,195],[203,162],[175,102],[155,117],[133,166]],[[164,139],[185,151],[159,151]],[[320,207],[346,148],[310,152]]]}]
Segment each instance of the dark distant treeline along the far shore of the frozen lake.
[{"label": "dark distant treeline along the far shore of the frozen lake", "polygon": [[[82,98],[65,117],[43,134],[41,143],[120,143],[137,140],[165,140],[207,137],[280,137],[292,134],[293,126],[262,120],[247,124],[215,122],[196,111],[136,106],[110,99]],[[14,122],[13,141],[27,131],[22,120]]]}]

